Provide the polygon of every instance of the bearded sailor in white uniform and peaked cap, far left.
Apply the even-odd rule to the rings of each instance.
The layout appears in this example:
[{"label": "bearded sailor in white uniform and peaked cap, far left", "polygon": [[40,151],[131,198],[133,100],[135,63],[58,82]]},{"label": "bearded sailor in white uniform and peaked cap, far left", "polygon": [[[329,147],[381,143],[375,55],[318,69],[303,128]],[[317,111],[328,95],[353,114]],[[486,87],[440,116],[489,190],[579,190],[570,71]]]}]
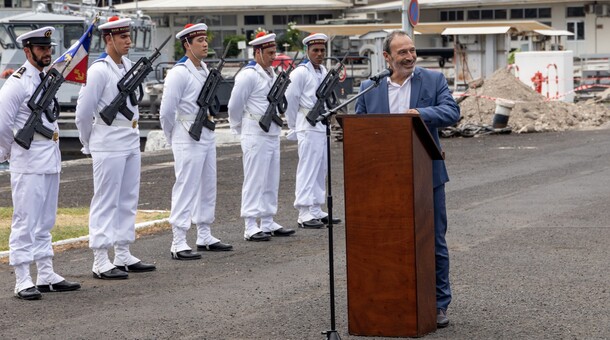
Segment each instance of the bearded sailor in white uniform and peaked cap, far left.
[{"label": "bearded sailor in white uniform and peaked cap, far left", "polygon": [[[41,292],[69,291],[80,288],[53,270],[51,229],[57,214],[59,172],[59,129],[52,104],[41,121],[53,131],[51,139],[34,133],[29,149],[14,141],[32,114],[28,101],[51,64],[53,27],[42,27],[17,38],[27,61],[0,89],[0,163],[10,160],[13,222],[9,236],[9,263],[15,270],[15,296],[37,300]],[[41,93],[42,94],[42,93]],[[30,276],[30,264],[36,262],[36,286]]]}]

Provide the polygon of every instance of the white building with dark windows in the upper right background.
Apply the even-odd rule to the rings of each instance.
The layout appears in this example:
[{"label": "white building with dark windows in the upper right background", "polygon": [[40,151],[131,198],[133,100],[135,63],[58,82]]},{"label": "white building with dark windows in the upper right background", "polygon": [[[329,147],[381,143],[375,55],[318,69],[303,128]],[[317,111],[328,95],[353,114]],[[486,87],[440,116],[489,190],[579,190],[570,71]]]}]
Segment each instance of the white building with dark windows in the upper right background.
[{"label": "white building with dark windows in the upper right background", "polygon": [[[365,0],[366,1],[366,0]],[[472,23],[477,21],[536,20],[574,36],[562,42],[563,48],[581,54],[610,53],[605,36],[610,33],[610,2],[570,0],[419,0],[420,23]],[[354,17],[383,19],[400,23],[402,1],[382,2],[349,10]],[[417,28],[416,28],[417,29]],[[517,36],[512,37],[518,41]],[[541,38],[534,38],[541,39]],[[511,47],[527,49],[527,44]]]}]

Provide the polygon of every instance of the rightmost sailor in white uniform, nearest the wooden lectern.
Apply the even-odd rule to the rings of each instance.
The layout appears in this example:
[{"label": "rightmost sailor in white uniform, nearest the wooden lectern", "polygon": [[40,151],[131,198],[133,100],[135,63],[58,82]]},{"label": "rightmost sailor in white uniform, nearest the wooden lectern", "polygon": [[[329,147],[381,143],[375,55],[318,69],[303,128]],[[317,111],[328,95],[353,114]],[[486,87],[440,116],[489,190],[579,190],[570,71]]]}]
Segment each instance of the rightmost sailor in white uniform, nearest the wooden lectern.
[{"label": "rightmost sailor in white uniform, nearest the wooden lectern", "polygon": [[[326,129],[321,122],[312,126],[306,119],[327,74],[323,65],[327,41],[323,33],[303,39],[307,60],[290,74],[291,82],[286,90],[286,120],[291,130],[288,136],[296,134],[299,145],[294,207],[299,211],[297,223],[302,228],[321,228],[329,222],[328,214],[322,211],[326,199]],[[333,223],[339,222],[340,219],[333,218]]]}]

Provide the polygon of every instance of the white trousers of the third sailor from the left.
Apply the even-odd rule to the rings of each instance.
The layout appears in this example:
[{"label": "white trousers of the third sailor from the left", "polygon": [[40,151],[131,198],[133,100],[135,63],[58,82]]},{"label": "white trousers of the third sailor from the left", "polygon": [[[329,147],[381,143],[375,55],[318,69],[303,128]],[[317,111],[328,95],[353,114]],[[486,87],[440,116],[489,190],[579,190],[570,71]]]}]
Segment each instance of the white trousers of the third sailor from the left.
[{"label": "white trousers of the third sailor from the left", "polygon": [[[197,225],[197,244],[218,242],[210,231],[216,210],[216,142],[174,143],[176,182],[169,222],[174,230],[173,251],[189,250],[186,232]],[[184,236],[182,236],[184,235]],[[177,237],[179,236],[179,237]]]}]

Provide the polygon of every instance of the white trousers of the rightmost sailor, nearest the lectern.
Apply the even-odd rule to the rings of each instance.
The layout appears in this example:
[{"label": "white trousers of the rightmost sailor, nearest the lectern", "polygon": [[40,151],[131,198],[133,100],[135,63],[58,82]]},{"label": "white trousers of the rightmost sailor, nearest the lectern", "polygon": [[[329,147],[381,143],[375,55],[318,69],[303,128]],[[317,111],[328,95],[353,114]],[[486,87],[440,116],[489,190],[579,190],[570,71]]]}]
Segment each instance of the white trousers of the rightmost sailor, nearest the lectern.
[{"label": "white trousers of the rightmost sailor, nearest the lectern", "polygon": [[297,166],[294,207],[299,220],[321,218],[320,206],[326,196],[326,134],[298,131],[299,164]]}]

